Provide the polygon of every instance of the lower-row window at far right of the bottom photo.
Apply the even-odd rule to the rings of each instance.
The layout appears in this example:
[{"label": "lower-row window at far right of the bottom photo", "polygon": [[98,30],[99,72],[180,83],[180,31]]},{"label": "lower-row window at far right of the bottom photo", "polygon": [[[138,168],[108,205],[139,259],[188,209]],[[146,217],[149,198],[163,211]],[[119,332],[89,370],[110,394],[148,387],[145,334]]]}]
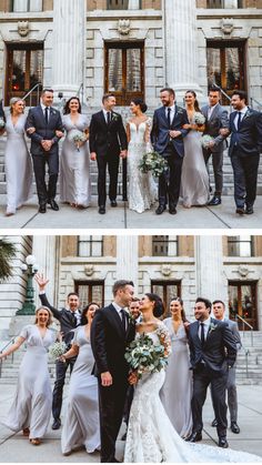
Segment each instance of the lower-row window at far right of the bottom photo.
[{"label": "lower-row window at far right of the bottom photo", "polygon": [[[256,309],[256,283],[255,282],[230,282],[229,283],[229,310],[230,317],[239,315],[246,321],[254,330],[258,330],[258,309]],[[238,320],[241,330],[249,331],[250,327],[241,320]]]}]

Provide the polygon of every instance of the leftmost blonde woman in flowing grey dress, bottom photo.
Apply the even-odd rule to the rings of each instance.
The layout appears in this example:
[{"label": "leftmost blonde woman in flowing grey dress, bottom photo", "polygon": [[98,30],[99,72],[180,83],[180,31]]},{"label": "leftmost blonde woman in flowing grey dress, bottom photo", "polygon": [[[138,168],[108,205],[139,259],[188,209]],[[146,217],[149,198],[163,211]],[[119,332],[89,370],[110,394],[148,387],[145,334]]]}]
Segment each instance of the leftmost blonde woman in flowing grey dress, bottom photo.
[{"label": "leftmost blonde woman in flowing grey dress, bottom photo", "polygon": [[30,443],[39,445],[44,436],[52,407],[52,391],[48,370],[48,348],[56,341],[56,332],[49,330],[51,312],[41,306],[36,312],[34,324],[24,326],[17,340],[0,360],[17,351],[27,342],[27,352],[19,368],[17,392],[8,413],[2,422],[18,433],[22,429]]}]

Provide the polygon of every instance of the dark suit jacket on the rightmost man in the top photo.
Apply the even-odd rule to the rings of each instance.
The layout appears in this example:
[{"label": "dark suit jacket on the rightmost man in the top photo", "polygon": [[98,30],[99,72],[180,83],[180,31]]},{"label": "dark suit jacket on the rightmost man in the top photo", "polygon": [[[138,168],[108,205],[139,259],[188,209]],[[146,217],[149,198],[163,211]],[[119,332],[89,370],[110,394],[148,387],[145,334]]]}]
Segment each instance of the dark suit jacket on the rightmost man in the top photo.
[{"label": "dark suit jacket on the rightmost man in the top photo", "polygon": [[241,121],[239,131],[234,124],[236,114],[238,112],[233,111],[230,115],[231,141],[229,155],[232,155],[234,148],[240,156],[260,154],[262,152],[262,113],[249,108]]}]

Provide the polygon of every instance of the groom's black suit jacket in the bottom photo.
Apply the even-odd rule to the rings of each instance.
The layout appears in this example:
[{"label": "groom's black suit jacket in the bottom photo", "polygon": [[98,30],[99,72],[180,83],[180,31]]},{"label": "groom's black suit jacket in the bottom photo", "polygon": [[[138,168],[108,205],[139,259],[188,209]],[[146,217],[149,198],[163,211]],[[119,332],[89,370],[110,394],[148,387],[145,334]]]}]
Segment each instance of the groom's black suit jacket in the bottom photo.
[{"label": "groom's black suit jacket in the bottom photo", "polygon": [[127,345],[135,335],[135,323],[127,314],[124,332],[120,316],[111,304],[95,312],[91,326],[91,345],[95,360],[94,374],[110,372],[113,378],[127,378],[129,365],[124,358]]}]

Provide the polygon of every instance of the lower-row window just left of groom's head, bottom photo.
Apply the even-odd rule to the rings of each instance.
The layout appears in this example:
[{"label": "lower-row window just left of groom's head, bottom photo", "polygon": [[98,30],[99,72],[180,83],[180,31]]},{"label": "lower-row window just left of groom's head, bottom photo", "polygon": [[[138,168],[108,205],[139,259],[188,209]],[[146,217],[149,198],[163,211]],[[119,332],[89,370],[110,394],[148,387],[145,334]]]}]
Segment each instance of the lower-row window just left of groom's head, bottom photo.
[{"label": "lower-row window just left of groom's head, bottom photo", "polygon": [[104,304],[103,281],[77,281],[74,290],[79,295],[80,306],[83,309],[90,302],[97,302],[100,306]]}]

